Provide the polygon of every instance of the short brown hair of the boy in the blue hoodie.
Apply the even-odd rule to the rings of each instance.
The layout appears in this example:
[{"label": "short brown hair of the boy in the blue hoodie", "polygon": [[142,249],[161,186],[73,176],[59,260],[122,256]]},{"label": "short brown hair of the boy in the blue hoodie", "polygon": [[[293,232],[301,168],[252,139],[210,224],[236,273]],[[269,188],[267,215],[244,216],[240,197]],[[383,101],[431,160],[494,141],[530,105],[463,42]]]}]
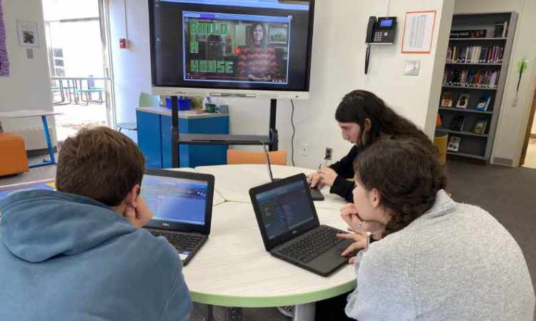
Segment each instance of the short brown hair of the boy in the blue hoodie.
[{"label": "short brown hair of the boy in the blue hoodie", "polygon": [[82,128],[63,143],[56,188],[116,206],[142,183],[145,158],[136,144],[107,127]]}]

